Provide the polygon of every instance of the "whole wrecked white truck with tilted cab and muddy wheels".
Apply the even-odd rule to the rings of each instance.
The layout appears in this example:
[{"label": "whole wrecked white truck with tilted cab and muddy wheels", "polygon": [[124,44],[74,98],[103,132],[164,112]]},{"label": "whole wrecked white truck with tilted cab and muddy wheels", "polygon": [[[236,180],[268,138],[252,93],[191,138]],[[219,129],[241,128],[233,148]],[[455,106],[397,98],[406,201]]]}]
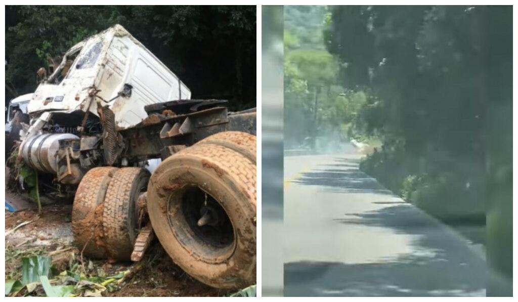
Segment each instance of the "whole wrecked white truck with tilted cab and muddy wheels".
[{"label": "whole wrecked white truck with tilted cab and muddy wheels", "polygon": [[256,113],[190,97],[114,25],[39,84],[16,162],[38,171],[44,194],[74,196],[85,256],[138,261],[154,234],[188,274],[236,289],[256,280]]}]

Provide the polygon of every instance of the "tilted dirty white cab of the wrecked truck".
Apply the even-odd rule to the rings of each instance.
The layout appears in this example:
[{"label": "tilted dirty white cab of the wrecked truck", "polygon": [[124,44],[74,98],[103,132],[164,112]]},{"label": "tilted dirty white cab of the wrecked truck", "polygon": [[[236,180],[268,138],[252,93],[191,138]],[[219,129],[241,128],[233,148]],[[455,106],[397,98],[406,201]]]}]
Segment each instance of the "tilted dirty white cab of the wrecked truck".
[{"label": "tilted dirty white cab of the wrecked truck", "polygon": [[[59,84],[47,82],[38,86],[28,105],[29,113],[90,110],[98,116],[96,102],[91,102],[89,96],[91,88],[100,90],[99,97],[110,100],[128,83],[133,86],[131,97],[118,97],[108,103],[117,126],[126,128],[147,117],[145,105],[191,98],[189,88],[121,25],[80,42],[67,51],[66,56],[78,51]],[[66,61],[64,58],[60,66]],[[49,79],[59,77],[60,73],[57,68]],[[107,104],[100,98],[95,101],[103,106]]]}]

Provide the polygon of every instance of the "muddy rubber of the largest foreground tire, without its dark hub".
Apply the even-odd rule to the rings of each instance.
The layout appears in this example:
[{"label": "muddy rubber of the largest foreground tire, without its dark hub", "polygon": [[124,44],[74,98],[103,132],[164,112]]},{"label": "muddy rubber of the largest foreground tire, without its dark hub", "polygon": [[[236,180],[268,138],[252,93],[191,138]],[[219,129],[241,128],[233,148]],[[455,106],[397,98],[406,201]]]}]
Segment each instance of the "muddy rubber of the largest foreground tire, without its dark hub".
[{"label": "muddy rubber of the largest foreground tire, without its dark hub", "polygon": [[[228,259],[231,265],[209,264],[189,251],[188,247],[181,247],[179,238],[169,231],[163,207],[159,200],[149,198],[164,198],[160,189],[166,182],[155,182],[153,179],[167,179],[169,167],[177,169],[178,165],[186,162],[198,162],[202,170],[208,170],[207,175],[221,179],[228,190],[242,196],[240,215],[233,216],[233,224],[238,225],[241,232],[236,233],[236,251]],[[162,168],[161,168],[162,166]],[[189,170],[189,166],[185,167]],[[198,168],[196,168],[198,169]],[[178,173],[178,174],[176,174]],[[175,172],[181,175],[181,172]],[[171,177],[168,176],[169,181]],[[158,179],[157,179],[158,180]],[[155,193],[150,194],[150,190]],[[161,195],[162,194],[162,195]],[[151,197],[150,197],[151,196]],[[256,165],[242,154],[219,145],[200,143],[171,155],[153,172],[148,185],[148,212],[150,214],[155,234],[164,246],[172,260],[193,278],[207,285],[221,289],[238,289],[251,285],[256,280]],[[161,199],[164,200],[164,199]],[[235,200],[237,202],[237,200]],[[164,202],[166,202],[164,200]],[[237,204],[234,206],[237,207]],[[172,243],[175,242],[175,243]],[[195,262],[195,263],[193,263]]]}]

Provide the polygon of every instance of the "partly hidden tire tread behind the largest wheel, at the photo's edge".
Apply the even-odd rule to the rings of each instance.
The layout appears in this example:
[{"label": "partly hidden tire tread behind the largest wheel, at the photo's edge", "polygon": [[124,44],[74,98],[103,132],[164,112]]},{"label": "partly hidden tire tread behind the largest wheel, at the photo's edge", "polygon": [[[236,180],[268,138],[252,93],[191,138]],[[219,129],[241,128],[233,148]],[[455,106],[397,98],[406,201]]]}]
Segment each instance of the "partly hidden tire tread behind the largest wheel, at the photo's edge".
[{"label": "partly hidden tire tread behind the largest wheel, at the photo's edge", "polygon": [[257,137],[240,131],[225,131],[200,140],[196,145],[211,143],[232,149],[247,157],[254,164],[257,162]]}]

